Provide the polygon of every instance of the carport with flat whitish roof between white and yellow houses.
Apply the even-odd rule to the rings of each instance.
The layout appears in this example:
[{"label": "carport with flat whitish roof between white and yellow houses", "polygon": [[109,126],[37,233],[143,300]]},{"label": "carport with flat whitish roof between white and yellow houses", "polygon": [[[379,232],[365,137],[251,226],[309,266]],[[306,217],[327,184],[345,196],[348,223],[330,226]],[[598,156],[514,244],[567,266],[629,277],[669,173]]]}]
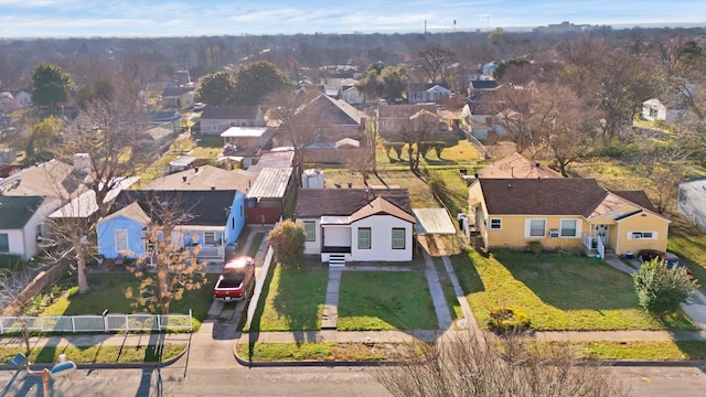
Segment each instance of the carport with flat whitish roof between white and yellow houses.
[{"label": "carport with flat whitish roof between white and yellow houses", "polygon": [[417,243],[431,256],[458,253],[456,226],[445,208],[413,208]]}]

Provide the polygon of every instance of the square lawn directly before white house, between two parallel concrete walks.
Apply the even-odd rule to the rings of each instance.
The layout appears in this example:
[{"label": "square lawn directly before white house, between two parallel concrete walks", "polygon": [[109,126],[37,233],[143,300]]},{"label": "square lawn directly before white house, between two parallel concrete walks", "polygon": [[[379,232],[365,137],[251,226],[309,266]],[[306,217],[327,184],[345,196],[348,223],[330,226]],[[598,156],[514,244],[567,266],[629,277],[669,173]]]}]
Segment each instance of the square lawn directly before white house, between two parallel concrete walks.
[{"label": "square lawn directly before white house, between two parallel concrete walks", "polygon": [[341,331],[438,328],[421,271],[345,271],[340,292]]}]

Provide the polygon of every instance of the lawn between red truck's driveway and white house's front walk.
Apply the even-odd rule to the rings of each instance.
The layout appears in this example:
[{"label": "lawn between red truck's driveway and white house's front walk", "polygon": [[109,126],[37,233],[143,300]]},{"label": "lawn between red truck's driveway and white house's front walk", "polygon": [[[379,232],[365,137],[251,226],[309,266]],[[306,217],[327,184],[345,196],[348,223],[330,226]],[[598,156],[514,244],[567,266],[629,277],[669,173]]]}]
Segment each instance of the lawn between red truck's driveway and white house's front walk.
[{"label": "lawn between red truck's driveway and white house's front walk", "polygon": [[320,330],[328,267],[312,262],[286,269],[277,265],[270,271],[249,331]]}]

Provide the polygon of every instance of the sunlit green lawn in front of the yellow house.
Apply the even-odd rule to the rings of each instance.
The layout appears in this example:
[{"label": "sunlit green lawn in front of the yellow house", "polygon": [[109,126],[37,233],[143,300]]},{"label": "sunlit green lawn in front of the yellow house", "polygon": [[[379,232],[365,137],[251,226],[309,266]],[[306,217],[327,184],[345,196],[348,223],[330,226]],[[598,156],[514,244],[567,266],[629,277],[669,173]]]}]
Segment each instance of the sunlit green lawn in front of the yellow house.
[{"label": "sunlit green lawn in front of the yellow house", "polygon": [[474,250],[452,258],[473,313],[523,311],[536,330],[694,330],[683,313],[660,323],[638,307],[630,276],[587,257]]}]

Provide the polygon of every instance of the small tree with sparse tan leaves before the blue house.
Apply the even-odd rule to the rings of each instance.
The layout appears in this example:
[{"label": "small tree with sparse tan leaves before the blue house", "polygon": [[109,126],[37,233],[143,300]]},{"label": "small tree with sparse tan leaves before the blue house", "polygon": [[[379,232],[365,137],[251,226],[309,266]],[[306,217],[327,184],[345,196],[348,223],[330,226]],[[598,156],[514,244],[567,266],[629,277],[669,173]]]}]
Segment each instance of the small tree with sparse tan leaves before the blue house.
[{"label": "small tree with sparse tan leaves before the blue house", "polygon": [[184,291],[200,289],[207,281],[196,258],[201,245],[194,240],[190,249],[182,248],[185,242],[178,226],[193,216],[184,212],[179,200],[160,201],[156,195],[148,212],[147,250],[131,268],[140,286],[137,291],[128,288],[126,297],[135,299],[136,308],[169,314],[170,304],[181,300]]}]

